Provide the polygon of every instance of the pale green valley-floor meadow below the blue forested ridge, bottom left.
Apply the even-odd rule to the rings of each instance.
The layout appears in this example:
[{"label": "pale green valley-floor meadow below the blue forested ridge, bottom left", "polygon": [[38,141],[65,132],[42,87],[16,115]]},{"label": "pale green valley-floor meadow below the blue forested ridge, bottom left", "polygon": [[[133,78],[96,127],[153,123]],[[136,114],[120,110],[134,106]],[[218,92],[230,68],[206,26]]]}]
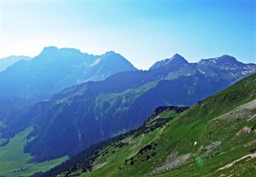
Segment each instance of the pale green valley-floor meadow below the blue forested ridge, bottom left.
[{"label": "pale green valley-floor meadow below the blue forested ridge, bottom left", "polygon": [[[32,128],[26,128],[26,130],[11,138],[9,144],[0,148],[0,175],[32,175],[37,171],[47,171],[67,159],[65,156],[44,163],[33,163],[33,157],[23,152],[23,147],[26,144],[26,136],[31,130]],[[17,172],[21,167],[28,169]]]}]

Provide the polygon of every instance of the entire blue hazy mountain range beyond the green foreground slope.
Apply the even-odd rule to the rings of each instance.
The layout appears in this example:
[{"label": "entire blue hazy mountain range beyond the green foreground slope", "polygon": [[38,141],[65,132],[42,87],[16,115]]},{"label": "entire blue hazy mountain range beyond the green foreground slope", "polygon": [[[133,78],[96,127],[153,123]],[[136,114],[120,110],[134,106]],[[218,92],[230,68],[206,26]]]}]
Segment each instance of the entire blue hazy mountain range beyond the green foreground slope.
[{"label": "entire blue hazy mountain range beyond the green foreground slope", "polygon": [[33,127],[24,150],[35,161],[75,155],[142,126],[160,105],[191,106],[255,72],[226,55],[189,63],[175,54],[142,71],[114,52],[49,47],[2,72],[0,138]]}]

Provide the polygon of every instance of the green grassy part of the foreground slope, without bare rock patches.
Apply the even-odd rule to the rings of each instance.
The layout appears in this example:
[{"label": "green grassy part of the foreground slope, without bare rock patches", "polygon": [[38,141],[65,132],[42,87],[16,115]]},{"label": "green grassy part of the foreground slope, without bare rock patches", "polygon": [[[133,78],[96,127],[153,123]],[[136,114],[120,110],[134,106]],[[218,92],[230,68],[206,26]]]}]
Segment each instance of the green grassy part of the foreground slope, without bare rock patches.
[{"label": "green grassy part of the foreground slope, without bare rock patches", "polygon": [[[103,148],[94,163],[94,170],[82,176],[218,176],[237,173],[250,176],[256,173],[255,159],[243,160],[223,171],[218,171],[218,168],[244,155],[255,153],[255,130],[236,136],[245,126],[256,128],[256,109],[243,107],[243,104],[254,99],[255,74],[195,104],[154,132],[126,137],[129,144],[122,148],[114,147],[114,144]],[[252,104],[254,102],[249,105]],[[168,112],[163,114],[166,116]],[[254,119],[248,120],[252,116]],[[218,141],[221,145],[206,153],[206,146]],[[149,144],[151,148],[142,151]],[[138,153],[140,150],[142,153]],[[190,154],[190,158],[172,170],[153,172],[163,166],[171,153]]]}]

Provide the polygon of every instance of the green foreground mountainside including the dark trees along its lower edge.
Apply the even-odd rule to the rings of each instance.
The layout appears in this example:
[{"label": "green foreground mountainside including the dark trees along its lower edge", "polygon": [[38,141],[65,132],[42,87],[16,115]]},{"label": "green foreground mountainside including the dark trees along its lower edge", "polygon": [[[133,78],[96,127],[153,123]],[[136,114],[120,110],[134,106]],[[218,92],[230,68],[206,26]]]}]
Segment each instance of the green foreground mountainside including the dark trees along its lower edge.
[{"label": "green foreground mountainside including the dark trees along its lower edge", "polygon": [[[256,74],[35,176],[254,176]],[[167,123],[161,124],[162,120]]]}]

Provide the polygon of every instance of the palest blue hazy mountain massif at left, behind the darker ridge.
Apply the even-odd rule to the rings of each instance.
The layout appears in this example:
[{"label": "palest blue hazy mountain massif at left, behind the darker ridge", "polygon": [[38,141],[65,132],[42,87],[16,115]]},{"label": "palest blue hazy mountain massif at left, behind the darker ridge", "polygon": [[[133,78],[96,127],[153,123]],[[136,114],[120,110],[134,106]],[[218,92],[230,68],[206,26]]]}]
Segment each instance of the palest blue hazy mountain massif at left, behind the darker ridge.
[{"label": "palest blue hazy mountain massif at left, behind the darker ridge", "polygon": [[126,58],[113,51],[94,56],[56,47],[46,47],[30,61],[16,62],[1,72],[0,138],[2,134],[9,138],[25,128],[24,124],[30,122],[18,118],[39,100],[72,85],[135,70]]}]

